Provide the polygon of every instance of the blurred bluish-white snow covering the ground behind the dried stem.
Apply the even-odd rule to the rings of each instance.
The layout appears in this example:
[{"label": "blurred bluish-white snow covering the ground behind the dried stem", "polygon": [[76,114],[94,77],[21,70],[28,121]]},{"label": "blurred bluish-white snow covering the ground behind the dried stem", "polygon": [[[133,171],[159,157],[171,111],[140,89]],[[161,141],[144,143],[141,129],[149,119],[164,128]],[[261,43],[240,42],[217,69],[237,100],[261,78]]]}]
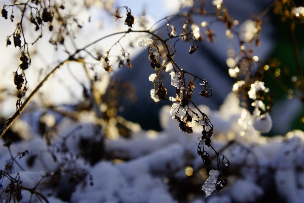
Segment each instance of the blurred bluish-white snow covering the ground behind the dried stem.
[{"label": "blurred bluish-white snow covering the ground behind the dried stem", "polygon": [[[259,202],[270,197],[279,202],[302,202],[304,132],[293,130],[284,137],[262,137],[254,129],[249,112],[239,107],[237,101],[232,92],[218,111],[200,107],[214,124],[213,147],[230,160],[230,170],[224,171],[227,186],[211,194],[208,202]],[[105,154],[117,158],[99,160],[94,165],[77,156],[81,154],[82,139],[100,140],[101,134],[96,135],[92,122],[74,123],[64,118],[56,128],[60,136],[50,139],[50,143],[23,122],[23,132],[27,131],[29,136],[26,141],[13,143],[10,149],[13,156],[24,150],[29,154],[16,159],[24,171],[13,163],[11,176],[16,177],[19,173],[26,188],[33,188],[41,181],[36,190],[49,202],[62,202],[58,198],[62,190],[66,195],[72,191],[70,202],[178,202],[172,192],[176,187],[170,183],[173,180],[179,183],[192,180],[191,184],[197,188],[186,194],[185,201],[204,202],[204,191],[197,191],[208,178],[209,170],[216,169],[216,160],[212,159],[212,165],[206,167],[197,154],[197,138],[201,137],[202,126],[194,124],[193,134],[183,133],[169,111],[170,106],[165,106],[160,112],[161,132],[143,131],[134,124],[131,138],[105,139]],[[0,149],[0,162],[10,161],[9,151],[5,147]],[[212,151],[208,150],[208,153],[214,157]],[[36,158],[30,164],[33,155]],[[4,166],[1,170],[5,170]],[[52,192],[50,180],[58,171],[61,175],[57,181],[62,184]],[[65,179],[81,173],[86,174],[84,180],[75,188],[68,188],[71,185]],[[48,177],[40,180],[46,175]],[[9,181],[2,180],[5,188]],[[21,192],[22,202],[27,202],[30,193]],[[6,199],[6,195],[2,193],[2,199]],[[38,199],[32,197],[32,202],[36,201]]]}]

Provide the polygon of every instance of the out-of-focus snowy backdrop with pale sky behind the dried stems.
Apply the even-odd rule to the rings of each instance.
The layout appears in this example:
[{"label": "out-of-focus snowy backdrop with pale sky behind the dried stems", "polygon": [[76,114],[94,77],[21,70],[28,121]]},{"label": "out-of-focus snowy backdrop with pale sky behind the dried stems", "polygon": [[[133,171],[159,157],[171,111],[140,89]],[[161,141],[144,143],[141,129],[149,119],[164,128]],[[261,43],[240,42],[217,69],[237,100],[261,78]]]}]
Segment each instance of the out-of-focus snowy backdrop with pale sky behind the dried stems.
[{"label": "out-of-focus snowy backdrop with pale sky behind the dried stems", "polygon": [[[0,3],[13,5],[6,0]],[[33,1],[29,4],[35,5]],[[174,60],[212,87],[212,97],[204,98],[197,95],[200,86],[196,84],[193,101],[214,124],[212,145],[231,161],[231,167],[224,170],[229,184],[220,192],[215,191],[208,202],[301,202],[304,102],[290,22],[303,71],[304,18],[296,18],[291,12],[294,6],[303,7],[303,1],[58,0],[53,6],[61,9],[68,25],[64,43],[55,46],[50,41],[58,39],[62,21],[54,18],[54,22],[44,22],[34,31],[29,10],[25,12],[23,30],[31,56],[31,65],[25,71],[26,96],[70,53],[113,32],[127,30],[126,9],[121,8],[123,18],[116,19],[113,15],[117,8],[127,6],[138,18],[133,30],[152,27],[164,39],[169,38],[168,21],[176,27],[177,35],[183,32],[185,18],[175,15],[182,14],[187,16],[188,29],[195,31],[199,48],[189,54],[192,42],[180,40],[175,45]],[[20,93],[13,75],[20,64],[20,50],[13,44],[7,46],[8,36],[20,21],[20,10],[14,7],[11,14],[12,7],[5,8],[9,18],[13,14],[15,17],[14,22],[4,17],[0,20],[1,127],[15,113],[16,96]],[[227,29],[223,18],[219,18],[224,13],[229,14],[233,29]],[[249,42],[241,42],[242,30],[252,29],[246,23],[248,19],[254,28],[261,22],[260,31],[255,31]],[[49,30],[51,24],[53,31]],[[40,35],[43,37],[35,42]],[[150,66],[148,49],[138,47],[138,42],[154,38],[132,32],[116,43],[120,37],[111,36],[78,53],[76,56],[84,59],[85,67],[79,62],[61,66],[6,132],[1,139],[1,170],[13,178],[2,179],[4,188],[10,181],[16,184],[19,173],[24,188],[39,185],[37,191],[48,196],[50,202],[206,200],[202,185],[218,165],[210,148],[207,151],[211,165],[203,164],[197,154],[202,126],[193,122],[193,134],[182,132],[169,113],[172,101],[155,104],[151,99],[150,90],[154,87],[148,78],[157,71]],[[130,54],[131,68],[126,61],[120,65],[122,48]],[[99,62],[108,49],[111,73]],[[253,100],[243,99],[241,90],[233,92],[234,84],[246,79],[232,72],[240,64],[241,50],[256,62],[245,72],[269,88],[271,102],[266,105],[273,106],[269,109],[272,128],[268,132],[252,125]],[[260,67],[262,74],[257,76]],[[160,72],[160,77],[167,88],[167,98],[176,96],[169,73]],[[242,91],[247,95],[249,89]],[[28,151],[19,160],[22,150]],[[25,202],[44,202],[24,188]],[[9,194],[1,191],[0,196],[6,199]]]}]

